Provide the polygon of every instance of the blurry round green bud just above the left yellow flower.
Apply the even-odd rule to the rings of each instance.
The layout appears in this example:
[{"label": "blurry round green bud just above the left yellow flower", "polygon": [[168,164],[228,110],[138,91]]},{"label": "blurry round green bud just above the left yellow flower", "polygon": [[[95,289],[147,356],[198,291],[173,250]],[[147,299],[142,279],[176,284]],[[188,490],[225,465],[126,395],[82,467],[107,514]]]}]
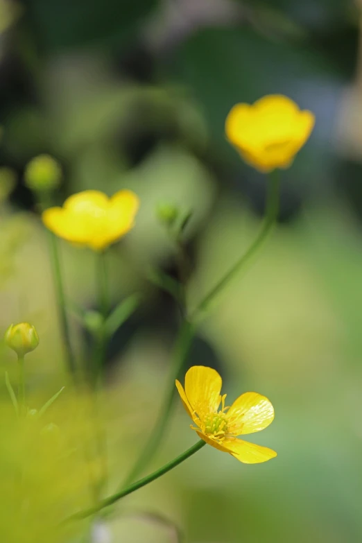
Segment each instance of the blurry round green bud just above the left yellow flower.
[{"label": "blurry round green bud just above the left yellow flower", "polygon": [[62,180],[62,170],[50,155],[39,155],[28,162],[24,179],[26,187],[33,191],[55,189]]}]

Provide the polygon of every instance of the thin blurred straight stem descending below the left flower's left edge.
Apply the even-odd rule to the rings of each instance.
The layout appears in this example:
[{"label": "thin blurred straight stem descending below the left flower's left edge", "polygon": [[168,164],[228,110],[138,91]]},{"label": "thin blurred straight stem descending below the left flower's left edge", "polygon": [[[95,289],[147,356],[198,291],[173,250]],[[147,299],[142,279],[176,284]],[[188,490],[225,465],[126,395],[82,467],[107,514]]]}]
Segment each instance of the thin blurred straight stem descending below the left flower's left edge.
[{"label": "thin blurred straight stem descending below the left flower's left edge", "polygon": [[53,234],[53,232],[48,232],[49,239],[49,252],[51,257],[51,267],[53,272],[53,281],[55,286],[55,296],[58,305],[58,313],[60,320],[60,327],[62,331],[62,338],[65,345],[65,356],[67,360],[67,368],[69,372],[75,376],[76,375],[76,361],[74,358],[74,353],[71,347],[71,339],[69,333],[69,324],[67,319],[66,305],[65,305],[65,296],[64,296],[64,286],[62,281],[62,272],[60,269],[60,257],[59,257],[59,248],[58,248],[58,239]]}]

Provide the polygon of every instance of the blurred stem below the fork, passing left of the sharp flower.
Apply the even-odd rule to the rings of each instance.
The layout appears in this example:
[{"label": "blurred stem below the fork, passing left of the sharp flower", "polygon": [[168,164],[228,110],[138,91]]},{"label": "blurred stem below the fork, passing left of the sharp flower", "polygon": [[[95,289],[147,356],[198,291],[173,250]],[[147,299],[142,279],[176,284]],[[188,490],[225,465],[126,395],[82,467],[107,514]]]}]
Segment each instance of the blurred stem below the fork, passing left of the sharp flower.
[{"label": "blurred stem below the fork, passing left of the sharp flower", "polygon": [[167,424],[171,417],[173,411],[173,398],[175,397],[175,379],[180,375],[182,370],[182,365],[186,359],[189,348],[191,347],[191,342],[195,329],[191,322],[185,320],[184,324],[180,329],[180,334],[178,336],[178,341],[175,347],[175,354],[173,358],[173,366],[171,368],[169,386],[167,388],[166,396],[160,408],[160,414],[157,417],[155,425],[153,426],[152,431],[150,432],[150,437],[146,442],[146,445],[143,447],[140,456],[137,458],[135,464],[133,465],[130,474],[126,481],[123,483],[122,488],[128,486],[132,481],[135,481],[137,476],[141,474],[146,465],[150,462],[151,458],[157,451],[158,446],[164,436],[164,432],[167,428]]}]

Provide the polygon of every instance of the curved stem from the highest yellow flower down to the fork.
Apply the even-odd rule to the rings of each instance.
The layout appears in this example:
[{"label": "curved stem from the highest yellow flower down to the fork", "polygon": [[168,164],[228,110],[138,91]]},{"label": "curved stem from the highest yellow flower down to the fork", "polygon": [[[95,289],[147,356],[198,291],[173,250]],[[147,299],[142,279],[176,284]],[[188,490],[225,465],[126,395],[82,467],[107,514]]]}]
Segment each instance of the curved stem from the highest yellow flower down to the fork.
[{"label": "curved stem from the highest yellow flower down to the fork", "polygon": [[234,276],[239,273],[241,268],[245,268],[248,264],[251,263],[263,248],[264,243],[268,239],[270,232],[273,230],[275,222],[277,220],[277,215],[279,213],[279,189],[280,189],[280,180],[279,180],[279,171],[274,170],[270,173],[270,179],[268,180],[268,195],[266,200],[266,216],[264,218],[264,223],[261,226],[261,230],[255,239],[255,241],[250,245],[248,250],[236,261],[236,264],[221,278],[221,280],[212,288],[205,298],[200,302],[196,310],[193,312],[191,319],[196,321],[201,316],[202,313],[205,313],[209,309],[210,304],[214,301],[217,295],[223,291],[223,289],[230,283]]}]

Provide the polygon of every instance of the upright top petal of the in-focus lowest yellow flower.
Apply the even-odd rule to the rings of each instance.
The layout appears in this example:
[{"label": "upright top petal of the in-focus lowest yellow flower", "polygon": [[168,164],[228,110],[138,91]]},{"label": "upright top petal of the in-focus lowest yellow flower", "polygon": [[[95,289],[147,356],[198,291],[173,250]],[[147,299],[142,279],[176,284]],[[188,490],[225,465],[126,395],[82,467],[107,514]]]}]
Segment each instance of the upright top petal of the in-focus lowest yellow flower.
[{"label": "upright top petal of the in-focus lowest yellow flower", "polygon": [[218,372],[204,365],[194,365],[184,378],[184,391],[193,411],[200,420],[218,411],[222,380]]}]

